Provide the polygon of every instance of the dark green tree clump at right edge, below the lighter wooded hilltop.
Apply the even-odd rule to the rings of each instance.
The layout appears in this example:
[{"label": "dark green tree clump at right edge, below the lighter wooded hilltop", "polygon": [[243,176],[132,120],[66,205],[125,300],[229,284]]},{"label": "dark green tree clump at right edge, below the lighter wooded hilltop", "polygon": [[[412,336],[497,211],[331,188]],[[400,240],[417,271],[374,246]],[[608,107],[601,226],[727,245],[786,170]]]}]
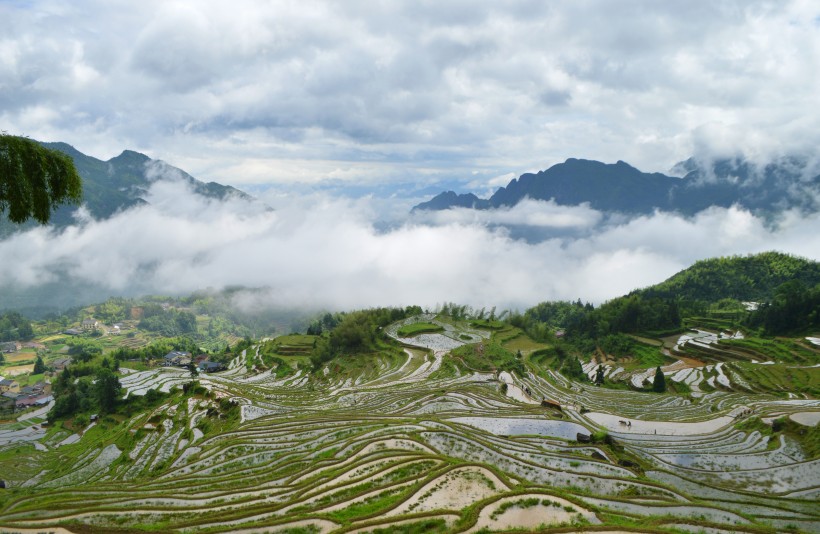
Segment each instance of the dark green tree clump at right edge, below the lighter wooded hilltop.
[{"label": "dark green tree clump at right edge, below the lighter wooded hilltop", "polygon": [[746,324],[767,335],[784,335],[820,328],[820,284],[809,288],[800,280],[777,288],[774,298],[749,314]]}]

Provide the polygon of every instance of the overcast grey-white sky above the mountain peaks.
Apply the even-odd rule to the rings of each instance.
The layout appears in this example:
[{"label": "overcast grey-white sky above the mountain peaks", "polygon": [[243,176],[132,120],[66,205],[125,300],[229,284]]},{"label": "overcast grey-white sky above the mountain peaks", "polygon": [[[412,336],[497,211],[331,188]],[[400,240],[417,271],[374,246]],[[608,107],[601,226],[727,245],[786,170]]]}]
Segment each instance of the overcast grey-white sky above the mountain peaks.
[{"label": "overcast grey-white sky above the mountain peaks", "polygon": [[663,172],[816,147],[818,30],[812,0],[2,0],[0,127],[237,186]]}]

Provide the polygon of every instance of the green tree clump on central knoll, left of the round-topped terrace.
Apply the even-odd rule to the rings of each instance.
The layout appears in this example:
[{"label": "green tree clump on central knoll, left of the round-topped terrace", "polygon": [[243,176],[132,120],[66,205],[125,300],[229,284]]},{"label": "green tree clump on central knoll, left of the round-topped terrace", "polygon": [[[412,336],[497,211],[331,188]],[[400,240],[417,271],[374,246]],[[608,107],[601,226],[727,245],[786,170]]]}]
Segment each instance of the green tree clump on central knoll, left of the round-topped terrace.
[{"label": "green tree clump on central knoll, left of the round-topped terrace", "polygon": [[390,323],[406,319],[422,312],[418,306],[407,308],[372,308],[339,314],[341,320],[329,332],[324,331],[316,339],[310,355],[314,369],[343,354],[356,354],[376,350],[379,340],[388,338],[381,331]]}]

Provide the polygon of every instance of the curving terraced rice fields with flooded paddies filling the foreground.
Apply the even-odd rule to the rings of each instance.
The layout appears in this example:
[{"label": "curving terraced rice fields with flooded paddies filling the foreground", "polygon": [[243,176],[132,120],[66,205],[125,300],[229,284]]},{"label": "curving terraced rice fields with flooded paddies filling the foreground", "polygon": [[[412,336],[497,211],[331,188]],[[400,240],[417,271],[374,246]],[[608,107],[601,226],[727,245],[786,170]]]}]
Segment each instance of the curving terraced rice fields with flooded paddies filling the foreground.
[{"label": "curving terraced rice fields with flooded paddies filling the foreground", "polygon": [[[0,428],[0,531],[820,532],[820,460],[735,427],[752,415],[816,424],[820,401],[723,386],[716,364],[672,377],[714,378],[698,397],[477,373],[447,353],[489,332],[441,326],[400,338],[400,358],[351,364],[356,375],[342,362],[277,378],[246,355],[199,378],[208,395],[130,420]],[[190,376],[121,381],[130,398]],[[577,441],[602,431],[609,443]]]}]

